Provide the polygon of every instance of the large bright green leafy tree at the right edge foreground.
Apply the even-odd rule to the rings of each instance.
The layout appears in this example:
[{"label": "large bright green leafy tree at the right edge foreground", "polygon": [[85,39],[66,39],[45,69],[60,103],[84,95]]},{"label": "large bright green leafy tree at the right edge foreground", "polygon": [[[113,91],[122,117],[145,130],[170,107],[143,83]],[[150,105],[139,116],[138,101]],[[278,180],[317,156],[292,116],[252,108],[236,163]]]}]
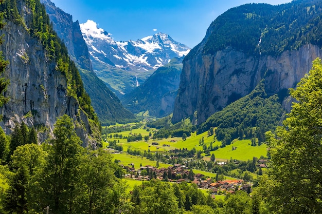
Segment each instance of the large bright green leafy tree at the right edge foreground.
[{"label": "large bright green leafy tree at the right edge foreground", "polygon": [[312,69],[291,95],[296,99],[291,113],[276,129],[277,139],[269,132],[274,182],[269,206],[278,213],[319,213],[322,210],[322,63],[313,61]]}]

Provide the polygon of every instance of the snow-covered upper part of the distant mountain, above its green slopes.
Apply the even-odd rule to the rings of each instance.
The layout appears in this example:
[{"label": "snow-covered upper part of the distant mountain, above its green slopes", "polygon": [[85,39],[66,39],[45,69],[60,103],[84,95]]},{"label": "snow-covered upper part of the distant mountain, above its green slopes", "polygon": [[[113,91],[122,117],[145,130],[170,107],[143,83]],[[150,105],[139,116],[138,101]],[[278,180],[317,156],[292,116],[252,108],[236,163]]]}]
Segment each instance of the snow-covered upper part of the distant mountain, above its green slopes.
[{"label": "snow-covered upper part of the distant mountain, above its green slopes", "polygon": [[[88,20],[80,24],[93,61],[125,70],[155,70],[173,57],[187,55],[190,48],[174,41],[168,34],[156,33],[137,41],[117,42],[111,34]],[[94,70],[95,62],[93,62]]]}]

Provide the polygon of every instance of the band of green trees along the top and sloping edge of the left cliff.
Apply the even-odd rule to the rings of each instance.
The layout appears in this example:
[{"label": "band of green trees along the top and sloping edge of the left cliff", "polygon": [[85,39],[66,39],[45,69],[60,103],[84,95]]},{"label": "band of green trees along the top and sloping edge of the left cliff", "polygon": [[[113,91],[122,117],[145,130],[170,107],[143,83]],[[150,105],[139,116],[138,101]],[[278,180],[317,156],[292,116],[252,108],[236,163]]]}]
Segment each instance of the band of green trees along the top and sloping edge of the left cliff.
[{"label": "band of green trees along the top and sloping edge of the left cliff", "polygon": [[[5,18],[17,24],[24,24],[28,28],[30,35],[37,38],[46,50],[46,55],[51,63],[56,63],[56,70],[63,73],[67,78],[67,94],[78,99],[88,118],[95,121],[98,119],[91,106],[90,96],[86,93],[80,74],[73,61],[69,59],[68,51],[56,32],[52,29],[49,16],[45,7],[38,0],[25,1],[30,10],[30,15],[26,16],[25,23],[19,14],[16,1],[5,0],[0,9],[5,12]],[[0,84],[1,85],[1,84]]]}]

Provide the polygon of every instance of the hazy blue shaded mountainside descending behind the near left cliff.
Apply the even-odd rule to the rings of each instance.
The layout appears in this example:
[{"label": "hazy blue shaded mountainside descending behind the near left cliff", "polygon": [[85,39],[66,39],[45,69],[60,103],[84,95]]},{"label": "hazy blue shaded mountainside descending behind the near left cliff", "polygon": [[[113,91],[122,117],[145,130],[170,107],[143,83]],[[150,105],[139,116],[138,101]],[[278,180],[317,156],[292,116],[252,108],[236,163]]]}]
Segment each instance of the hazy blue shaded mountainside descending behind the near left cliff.
[{"label": "hazy blue shaded mountainside descending behind the near left cliff", "polygon": [[41,0],[52,22],[53,29],[64,42],[69,56],[79,68],[84,88],[90,95],[92,105],[100,122],[104,125],[133,122],[135,116],[125,109],[117,96],[101,81],[93,71],[90,53],[83,39],[78,21],[57,8],[50,0]]}]

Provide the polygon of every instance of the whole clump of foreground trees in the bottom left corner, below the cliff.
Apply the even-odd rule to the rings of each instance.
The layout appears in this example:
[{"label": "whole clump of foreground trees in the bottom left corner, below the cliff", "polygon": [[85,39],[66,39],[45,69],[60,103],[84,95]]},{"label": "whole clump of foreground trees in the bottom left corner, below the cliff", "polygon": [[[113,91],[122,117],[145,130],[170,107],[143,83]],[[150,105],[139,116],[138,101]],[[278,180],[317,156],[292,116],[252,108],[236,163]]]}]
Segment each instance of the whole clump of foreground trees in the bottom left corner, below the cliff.
[{"label": "whole clump of foreground trees in the bottom left corner, below the cliff", "polygon": [[117,213],[129,205],[120,166],[101,149],[82,148],[69,116],[42,145],[25,124],[11,137],[0,129],[0,138],[2,213],[42,213],[46,206],[52,213]]}]

